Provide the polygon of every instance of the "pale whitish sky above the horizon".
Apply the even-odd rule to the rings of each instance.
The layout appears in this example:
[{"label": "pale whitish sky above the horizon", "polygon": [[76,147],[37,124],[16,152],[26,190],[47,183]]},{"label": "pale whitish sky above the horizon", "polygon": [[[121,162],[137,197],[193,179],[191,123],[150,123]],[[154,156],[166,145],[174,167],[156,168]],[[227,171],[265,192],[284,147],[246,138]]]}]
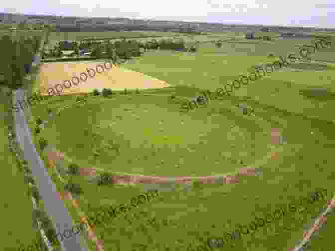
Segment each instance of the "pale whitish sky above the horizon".
[{"label": "pale whitish sky above the horizon", "polygon": [[3,0],[0,12],[335,28],[334,0]]}]

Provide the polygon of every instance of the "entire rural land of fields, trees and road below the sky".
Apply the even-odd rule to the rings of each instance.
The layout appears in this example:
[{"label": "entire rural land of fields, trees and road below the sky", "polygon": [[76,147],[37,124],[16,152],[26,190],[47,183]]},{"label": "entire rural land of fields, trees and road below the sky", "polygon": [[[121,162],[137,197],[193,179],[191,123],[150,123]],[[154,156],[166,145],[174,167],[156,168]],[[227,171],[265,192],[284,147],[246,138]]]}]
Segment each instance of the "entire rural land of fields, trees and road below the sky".
[{"label": "entire rural land of fields, trees and road below the sky", "polygon": [[[0,48],[0,250],[211,250],[208,239],[327,190],[212,248],[287,251],[335,207],[332,28],[0,13]],[[263,76],[290,53],[300,59]],[[252,72],[258,79],[230,95],[198,98]],[[56,85],[62,92],[48,95]],[[33,94],[43,98],[30,103]],[[64,205],[69,226],[51,203]],[[77,239],[50,244],[79,223],[88,230]],[[304,250],[331,250],[334,231],[327,213]]]}]

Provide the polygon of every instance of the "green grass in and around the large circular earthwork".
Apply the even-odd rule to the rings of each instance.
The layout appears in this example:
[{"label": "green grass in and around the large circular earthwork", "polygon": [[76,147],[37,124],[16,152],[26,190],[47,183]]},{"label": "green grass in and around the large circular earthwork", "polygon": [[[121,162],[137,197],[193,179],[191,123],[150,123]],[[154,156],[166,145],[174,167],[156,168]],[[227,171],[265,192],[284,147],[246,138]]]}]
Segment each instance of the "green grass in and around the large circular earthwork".
[{"label": "green grass in and around the large circular earthwork", "polygon": [[[196,53],[148,52],[124,67],[165,80],[174,88],[146,91],[153,95],[132,91],[128,95],[118,92],[109,98],[89,96],[84,105],[74,104],[75,96],[52,97],[32,107],[34,116],[46,119],[47,108],[56,111],[64,104],[72,104],[62,109],[55,124],[43,129],[36,138],[48,139],[80,167],[97,167],[111,173],[229,173],[257,165],[272,151],[272,128],[281,128],[285,135],[287,144],[279,158],[263,163],[264,173],[260,177],[241,177],[240,184],[200,185],[188,193],[162,192],[158,200],[106,221],[96,230],[104,240],[105,250],[186,251],[189,244],[195,250],[201,238],[223,237],[223,232],[235,230],[237,224],[249,224],[255,216],[309,196],[317,188],[328,189],[327,199],[333,196],[334,64],[292,63],[234,90],[232,96],[212,100],[188,113],[180,112],[181,99],[170,98],[171,94],[194,97],[201,90],[214,91],[239,74],[246,74],[254,65],[275,60],[269,60],[269,52],[286,56],[298,52],[295,45],[301,43],[309,42],[237,41],[224,43],[222,48],[201,44]],[[331,58],[334,45],[324,51],[327,52],[317,52],[312,60]],[[314,87],[328,90],[320,93]],[[238,103],[253,107],[254,115],[243,115],[236,107]],[[98,187],[81,176],[72,181],[83,188],[79,203],[86,212],[88,203],[97,208],[128,203],[145,191],[140,185]],[[285,216],[224,250],[293,248],[326,203],[320,201],[303,212]],[[73,216],[79,219],[75,213]],[[313,239],[313,251],[330,250],[335,230],[332,217],[319,239]],[[150,223],[153,218],[157,224]],[[90,248],[95,249],[93,243]]]}]

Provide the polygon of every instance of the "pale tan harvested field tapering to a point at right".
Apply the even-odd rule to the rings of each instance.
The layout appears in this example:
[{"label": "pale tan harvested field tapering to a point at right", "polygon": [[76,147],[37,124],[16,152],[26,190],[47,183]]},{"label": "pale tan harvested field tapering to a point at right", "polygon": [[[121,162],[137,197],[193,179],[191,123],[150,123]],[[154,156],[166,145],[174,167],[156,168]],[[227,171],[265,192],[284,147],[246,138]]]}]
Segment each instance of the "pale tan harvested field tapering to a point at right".
[{"label": "pale tan harvested field tapering to a point at right", "polygon": [[[48,95],[48,88],[52,88],[57,84],[63,86],[65,80],[71,80],[72,77],[85,72],[87,68],[95,69],[98,64],[103,65],[103,61],[98,62],[57,62],[43,63],[40,67],[39,83],[41,95]],[[107,67],[111,67],[109,63]],[[101,71],[101,68],[98,67]],[[92,74],[93,75],[93,74]],[[82,75],[83,76],[83,75]],[[82,78],[85,78],[84,76]],[[66,83],[68,85],[68,83]],[[145,75],[141,72],[132,71],[123,67],[113,65],[111,69],[95,74],[93,77],[88,77],[86,81],[80,80],[78,85],[73,85],[70,88],[64,88],[60,95],[92,92],[94,89],[102,90],[103,88],[111,88],[112,90],[127,89],[150,89],[163,88],[170,85],[163,80]],[[61,87],[58,86],[60,90]]]}]

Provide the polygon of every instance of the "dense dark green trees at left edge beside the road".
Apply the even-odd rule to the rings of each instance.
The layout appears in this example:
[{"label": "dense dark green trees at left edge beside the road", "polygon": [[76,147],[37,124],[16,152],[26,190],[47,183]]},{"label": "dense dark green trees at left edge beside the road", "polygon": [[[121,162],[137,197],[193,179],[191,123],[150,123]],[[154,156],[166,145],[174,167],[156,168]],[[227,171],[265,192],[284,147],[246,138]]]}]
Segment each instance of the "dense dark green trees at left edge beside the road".
[{"label": "dense dark green trees at left edge beside the road", "polygon": [[10,88],[18,88],[23,84],[23,77],[31,71],[34,54],[41,43],[40,36],[20,36],[13,40],[8,35],[0,39],[1,63],[4,84]]}]

